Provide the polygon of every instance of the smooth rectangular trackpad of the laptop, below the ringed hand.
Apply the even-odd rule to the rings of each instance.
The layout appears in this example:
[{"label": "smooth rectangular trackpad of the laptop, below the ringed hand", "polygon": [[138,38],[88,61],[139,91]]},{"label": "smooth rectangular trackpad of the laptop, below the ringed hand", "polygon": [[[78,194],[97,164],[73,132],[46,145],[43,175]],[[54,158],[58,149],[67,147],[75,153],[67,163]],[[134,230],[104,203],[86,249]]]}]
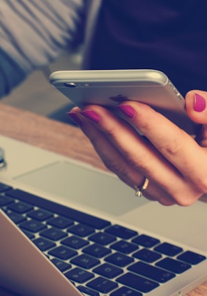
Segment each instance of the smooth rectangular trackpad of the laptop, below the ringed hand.
[{"label": "smooth rectangular trackpad of the laptop, below the ringed hand", "polygon": [[118,178],[69,161],[52,163],[15,179],[58,195],[60,200],[56,202],[62,201],[68,206],[75,202],[116,216],[148,202],[144,198],[137,199],[133,189]]}]

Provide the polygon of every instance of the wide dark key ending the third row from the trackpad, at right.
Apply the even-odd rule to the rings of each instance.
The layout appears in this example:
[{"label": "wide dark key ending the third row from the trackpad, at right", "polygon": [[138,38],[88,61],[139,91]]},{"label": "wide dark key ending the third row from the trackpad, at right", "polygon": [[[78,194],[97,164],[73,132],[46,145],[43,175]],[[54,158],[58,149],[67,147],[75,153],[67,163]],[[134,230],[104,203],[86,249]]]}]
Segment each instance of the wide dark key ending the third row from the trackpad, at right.
[{"label": "wide dark key ending the third row from the trackpad, at right", "polygon": [[128,267],[128,270],[130,270],[131,272],[135,272],[135,274],[145,276],[148,279],[158,281],[159,283],[165,283],[170,279],[173,279],[175,276],[175,274],[172,274],[171,272],[167,272],[164,269],[160,269],[153,265],[148,265],[141,261]]}]

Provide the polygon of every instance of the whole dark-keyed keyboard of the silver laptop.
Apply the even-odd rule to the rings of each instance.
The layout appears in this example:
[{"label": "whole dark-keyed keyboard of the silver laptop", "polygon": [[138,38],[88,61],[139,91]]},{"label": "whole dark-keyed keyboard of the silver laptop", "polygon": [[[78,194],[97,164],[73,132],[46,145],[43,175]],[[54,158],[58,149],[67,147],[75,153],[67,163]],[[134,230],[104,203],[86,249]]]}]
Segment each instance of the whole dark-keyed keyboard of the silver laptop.
[{"label": "whole dark-keyed keyboard of the silver laptop", "polygon": [[206,260],[2,183],[0,207],[85,295],[147,295]]}]

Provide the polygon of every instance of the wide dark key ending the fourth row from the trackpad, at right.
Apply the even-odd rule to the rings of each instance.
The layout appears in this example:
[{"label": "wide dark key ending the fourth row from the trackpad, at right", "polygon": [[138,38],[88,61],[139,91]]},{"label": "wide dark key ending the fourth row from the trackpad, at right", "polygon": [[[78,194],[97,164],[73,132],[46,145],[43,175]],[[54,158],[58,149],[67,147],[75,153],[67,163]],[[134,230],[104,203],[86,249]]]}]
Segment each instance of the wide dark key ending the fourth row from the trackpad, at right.
[{"label": "wide dark key ending the fourth row from the trackpad, at right", "polygon": [[116,281],[142,293],[151,292],[151,290],[158,288],[159,286],[159,284],[155,283],[155,281],[151,281],[136,274],[131,274],[130,272],[123,274],[123,276],[120,276],[116,279]]}]

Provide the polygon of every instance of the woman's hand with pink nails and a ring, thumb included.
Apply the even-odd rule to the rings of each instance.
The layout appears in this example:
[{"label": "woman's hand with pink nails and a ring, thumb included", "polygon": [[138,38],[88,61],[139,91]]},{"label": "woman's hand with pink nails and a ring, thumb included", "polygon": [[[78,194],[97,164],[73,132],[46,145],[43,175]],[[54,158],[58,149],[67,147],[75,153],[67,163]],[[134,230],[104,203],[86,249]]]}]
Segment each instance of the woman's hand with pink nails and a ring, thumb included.
[{"label": "woman's hand with pink nails and a ring, thumb included", "polygon": [[136,188],[148,178],[146,198],[186,206],[207,192],[206,101],[204,91],[186,96],[187,114],[202,124],[195,140],[143,103],[121,103],[118,110],[126,120],[98,105],[73,108],[68,114],[123,182]]}]

